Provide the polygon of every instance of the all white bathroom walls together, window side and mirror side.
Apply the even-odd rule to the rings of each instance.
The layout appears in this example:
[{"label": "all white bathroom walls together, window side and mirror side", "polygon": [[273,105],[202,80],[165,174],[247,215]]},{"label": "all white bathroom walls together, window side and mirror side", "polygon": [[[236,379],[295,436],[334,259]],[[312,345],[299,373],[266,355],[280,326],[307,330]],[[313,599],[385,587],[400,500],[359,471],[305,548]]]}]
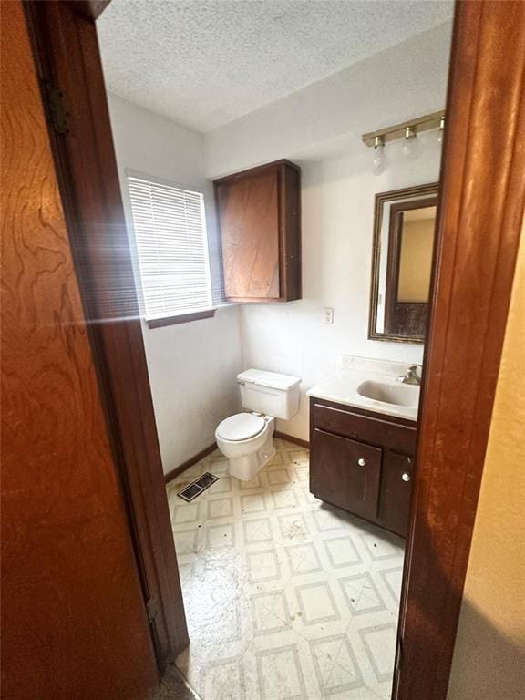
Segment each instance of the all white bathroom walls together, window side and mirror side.
[{"label": "all white bathroom walls together, window side and mirror side", "polygon": [[[242,368],[303,378],[300,414],[278,427],[306,439],[304,393],[343,353],[421,362],[421,345],[366,338],[373,208],[376,192],[438,180],[436,134],[421,137],[414,161],[403,160],[399,144],[389,147],[380,177],[360,134],[443,108],[449,38],[449,23],[437,26],[205,136],[110,97],[122,182],[130,168],[203,187],[210,213],[212,178],[280,158],[303,169],[303,300],[144,326],[165,471],[210,444],[221,418],[239,409],[234,377]],[[212,231],[212,217],[208,223]],[[335,308],[333,325],[323,323],[324,306]]]}]

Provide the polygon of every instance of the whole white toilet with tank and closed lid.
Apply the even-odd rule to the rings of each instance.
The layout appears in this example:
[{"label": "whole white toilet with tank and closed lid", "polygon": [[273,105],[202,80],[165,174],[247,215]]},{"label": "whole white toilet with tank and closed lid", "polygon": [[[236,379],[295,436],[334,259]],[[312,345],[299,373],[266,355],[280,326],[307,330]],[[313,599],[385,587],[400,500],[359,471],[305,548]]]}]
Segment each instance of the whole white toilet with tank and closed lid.
[{"label": "whole white toilet with tank and closed lid", "polygon": [[237,375],[243,408],[224,418],[215,431],[217,447],[230,462],[232,477],[249,481],[273,458],[275,418],[287,420],[299,410],[298,376],[247,369]]}]

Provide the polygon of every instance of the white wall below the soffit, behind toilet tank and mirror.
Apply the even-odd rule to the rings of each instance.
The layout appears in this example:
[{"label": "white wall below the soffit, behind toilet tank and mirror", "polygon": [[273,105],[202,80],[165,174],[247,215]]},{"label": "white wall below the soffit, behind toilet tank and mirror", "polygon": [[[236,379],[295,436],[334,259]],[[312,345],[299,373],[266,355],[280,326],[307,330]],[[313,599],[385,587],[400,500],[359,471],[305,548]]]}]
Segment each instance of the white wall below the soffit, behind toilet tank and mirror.
[{"label": "white wall below the soffit, behind toilet tank and mirror", "polygon": [[[303,163],[303,299],[242,306],[243,363],[303,378],[301,409],[278,429],[308,439],[306,390],[340,365],[341,355],[422,362],[423,345],[368,340],[374,195],[438,179],[435,135],[417,161],[396,162],[380,176],[370,152]],[[334,324],[324,324],[324,306]]]}]

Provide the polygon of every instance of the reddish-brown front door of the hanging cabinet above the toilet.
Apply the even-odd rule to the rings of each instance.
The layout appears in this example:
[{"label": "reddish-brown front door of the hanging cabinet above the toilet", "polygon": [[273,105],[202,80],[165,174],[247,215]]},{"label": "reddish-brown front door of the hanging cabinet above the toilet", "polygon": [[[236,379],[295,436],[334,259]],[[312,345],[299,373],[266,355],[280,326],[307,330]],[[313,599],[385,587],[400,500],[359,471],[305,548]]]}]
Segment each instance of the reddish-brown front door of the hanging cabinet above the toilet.
[{"label": "reddish-brown front door of the hanging cabinet above the toilet", "polygon": [[224,292],[231,301],[280,297],[278,175],[273,168],[216,182]]}]

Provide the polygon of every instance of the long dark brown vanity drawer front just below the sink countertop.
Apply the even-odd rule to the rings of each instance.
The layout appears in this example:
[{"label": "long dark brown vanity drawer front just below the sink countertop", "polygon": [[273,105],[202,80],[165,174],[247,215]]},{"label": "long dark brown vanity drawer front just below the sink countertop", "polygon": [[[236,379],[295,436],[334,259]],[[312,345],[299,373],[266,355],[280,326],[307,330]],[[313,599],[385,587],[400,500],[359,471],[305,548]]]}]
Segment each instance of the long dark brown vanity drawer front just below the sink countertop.
[{"label": "long dark brown vanity drawer front just below the sink countertop", "polygon": [[407,454],[416,450],[416,426],[394,423],[388,417],[368,417],[354,413],[351,407],[344,410],[312,399],[310,421],[313,430],[319,428]]}]

